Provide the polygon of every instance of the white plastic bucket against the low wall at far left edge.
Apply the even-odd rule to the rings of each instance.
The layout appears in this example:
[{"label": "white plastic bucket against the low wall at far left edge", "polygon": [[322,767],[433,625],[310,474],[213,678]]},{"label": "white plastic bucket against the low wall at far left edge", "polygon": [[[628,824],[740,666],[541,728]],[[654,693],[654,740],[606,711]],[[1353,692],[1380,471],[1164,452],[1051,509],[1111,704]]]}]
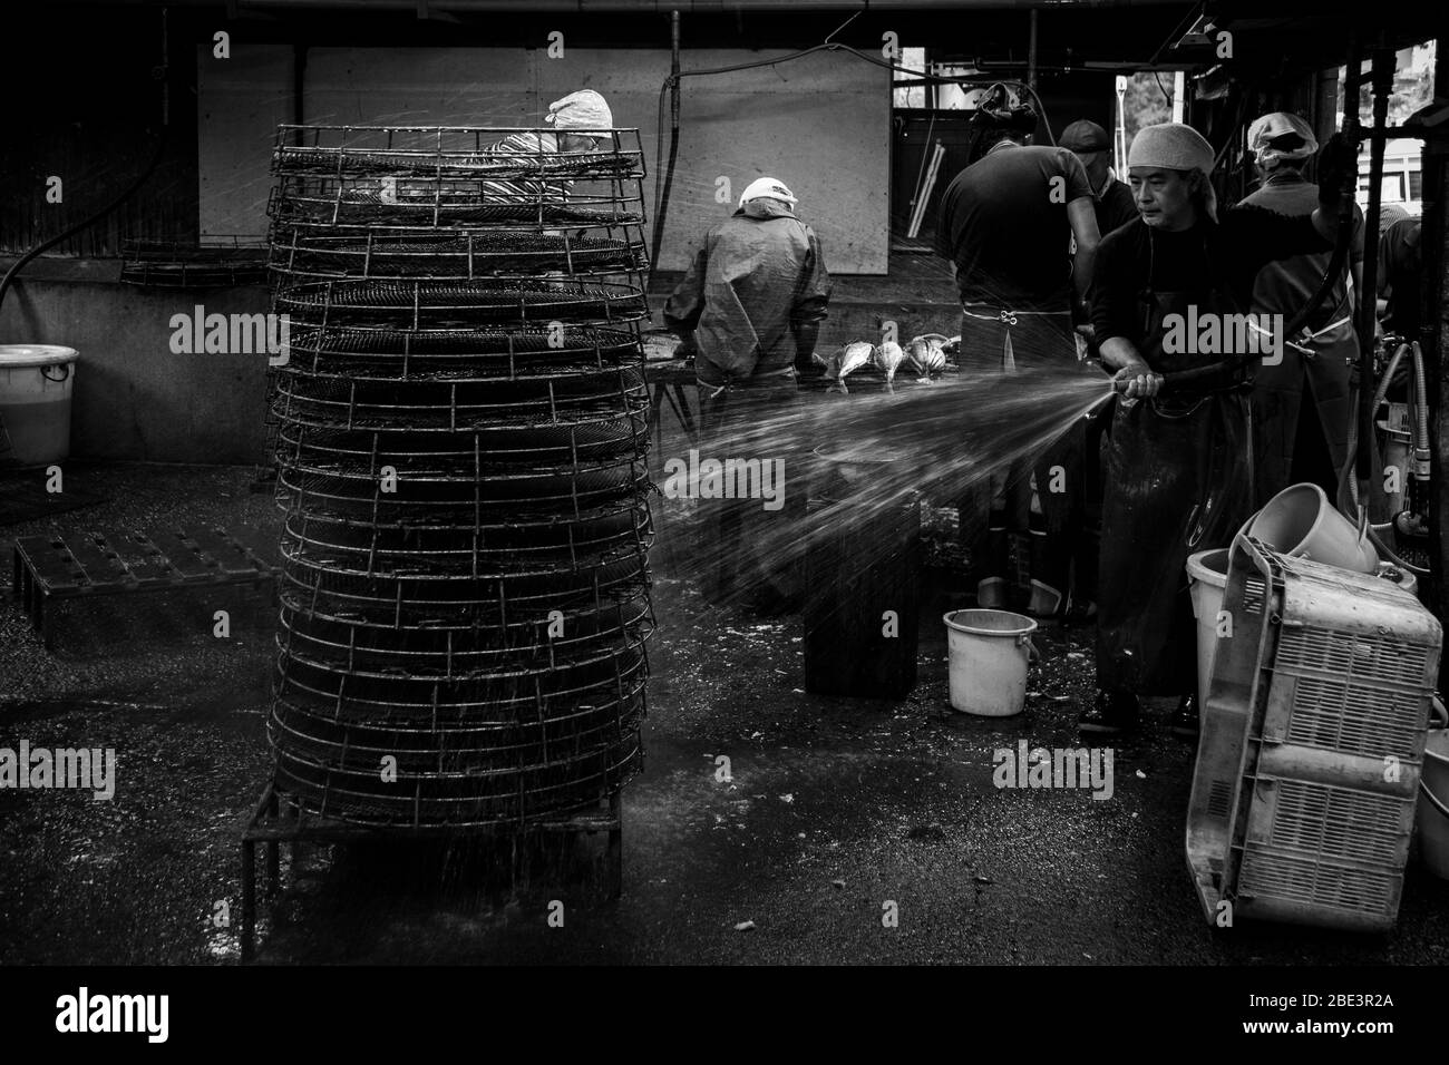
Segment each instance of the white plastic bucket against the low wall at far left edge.
[{"label": "white plastic bucket against the low wall at far left edge", "polygon": [[0,462],[46,465],[71,454],[74,348],[48,343],[0,345]]}]

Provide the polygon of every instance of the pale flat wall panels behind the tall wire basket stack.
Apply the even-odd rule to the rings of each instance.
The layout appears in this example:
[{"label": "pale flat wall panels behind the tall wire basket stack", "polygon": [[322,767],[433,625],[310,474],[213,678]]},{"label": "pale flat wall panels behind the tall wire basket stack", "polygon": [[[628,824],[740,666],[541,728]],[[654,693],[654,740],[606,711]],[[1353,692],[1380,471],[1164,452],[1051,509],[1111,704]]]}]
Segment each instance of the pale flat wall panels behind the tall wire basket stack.
[{"label": "pale flat wall panels behind the tall wire basket stack", "polygon": [[[782,52],[693,49],[684,70],[751,62]],[[291,52],[248,46],[227,61],[199,57],[201,232],[267,229],[268,159],[278,122],[291,116]],[[309,123],[539,123],[548,103],[575,88],[609,100],[614,123],[640,130],[653,203],[661,49],[313,48],[303,113]],[[884,274],[890,242],[890,72],[846,55],[684,78],[680,158],[659,267],[682,270],[703,230],[771,174],[800,197],[801,216],[839,274]],[[729,178],[730,203],[716,201]]]}]

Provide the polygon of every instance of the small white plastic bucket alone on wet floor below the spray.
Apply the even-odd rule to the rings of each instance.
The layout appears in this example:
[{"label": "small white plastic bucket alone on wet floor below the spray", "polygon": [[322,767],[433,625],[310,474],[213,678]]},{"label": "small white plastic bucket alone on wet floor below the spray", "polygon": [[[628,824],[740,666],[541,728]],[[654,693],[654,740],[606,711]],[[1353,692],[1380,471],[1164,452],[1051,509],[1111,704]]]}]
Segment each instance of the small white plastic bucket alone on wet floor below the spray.
[{"label": "small white plastic bucket alone on wet floor below the spray", "polygon": [[980,717],[1022,713],[1036,622],[1010,610],[952,610],[943,620],[951,709]]}]

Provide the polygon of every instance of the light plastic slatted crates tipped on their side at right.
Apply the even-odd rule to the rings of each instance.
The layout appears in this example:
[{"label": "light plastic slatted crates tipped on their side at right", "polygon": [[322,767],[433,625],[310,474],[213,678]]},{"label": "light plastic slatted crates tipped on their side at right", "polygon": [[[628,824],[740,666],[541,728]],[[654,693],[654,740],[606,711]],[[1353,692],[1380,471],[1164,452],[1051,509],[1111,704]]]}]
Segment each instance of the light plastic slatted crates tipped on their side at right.
[{"label": "light plastic slatted crates tipped on their side at right", "polygon": [[1187,858],[1210,923],[1392,927],[1443,630],[1392,581],[1240,535]]}]

